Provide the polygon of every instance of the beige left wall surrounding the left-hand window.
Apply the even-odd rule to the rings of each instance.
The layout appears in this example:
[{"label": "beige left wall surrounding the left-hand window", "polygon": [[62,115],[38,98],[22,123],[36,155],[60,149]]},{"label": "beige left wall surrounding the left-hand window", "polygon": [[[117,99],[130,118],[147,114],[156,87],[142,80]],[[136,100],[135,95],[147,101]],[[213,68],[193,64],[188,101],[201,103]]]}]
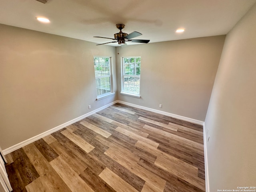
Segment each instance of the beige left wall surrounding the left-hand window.
[{"label": "beige left wall surrounding the left-hand window", "polygon": [[0,25],[0,146],[115,101],[116,95],[96,101],[94,55],[112,57],[116,80],[114,47]]}]

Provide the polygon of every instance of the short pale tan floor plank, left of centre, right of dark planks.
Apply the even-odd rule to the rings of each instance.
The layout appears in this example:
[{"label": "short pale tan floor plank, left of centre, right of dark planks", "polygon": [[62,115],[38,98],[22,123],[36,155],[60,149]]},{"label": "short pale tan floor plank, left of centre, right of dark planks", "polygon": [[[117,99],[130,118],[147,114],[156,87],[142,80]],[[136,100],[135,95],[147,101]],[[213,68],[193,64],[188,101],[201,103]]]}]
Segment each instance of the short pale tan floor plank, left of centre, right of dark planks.
[{"label": "short pale tan floor plank, left of centre, right of dark planks", "polygon": [[80,146],[80,148],[82,148],[87,153],[94,149],[94,146],[92,146],[90,143],[86,142],[81,137],[77,136],[68,129],[62,131],[61,133],[67,138],[69,138],[72,142]]}]

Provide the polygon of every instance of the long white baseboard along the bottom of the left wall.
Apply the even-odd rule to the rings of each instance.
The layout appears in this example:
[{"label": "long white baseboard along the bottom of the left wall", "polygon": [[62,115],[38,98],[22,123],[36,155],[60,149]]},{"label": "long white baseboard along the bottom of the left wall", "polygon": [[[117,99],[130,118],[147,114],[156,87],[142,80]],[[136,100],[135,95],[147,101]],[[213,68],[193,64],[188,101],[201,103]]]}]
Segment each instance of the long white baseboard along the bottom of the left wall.
[{"label": "long white baseboard along the bottom of the left wall", "polygon": [[70,120],[70,121],[68,121],[68,122],[66,122],[66,123],[64,123],[64,124],[61,124],[61,125],[59,125],[59,126],[57,126],[57,127],[55,127],[55,128],[52,128],[52,129],[50,129],[50,130],[48,130],[48,131],[46,131],[46,132],[43,132],[43,133],[41,133],[41,134],[39,134],[39,135],[36,135],[36,136],[34,136],[34,137],[32,137],[32,138],[29,138],[29,139],[27,139],[27,140],[25,140],[25,141],[22,141],[22,142],[20,142],[20,143],[14,145],[14,146],[11,146],[11,147],[9,147],[9,148],[7,148],[7,149],[4,149],[4,150],[2,150],[2,152],[3,152],[4,155],[6,155],[6,154],[8,154],[8,153],[10,153],[10,152],[13,152],[13,151],[15,151],[15,150],[17,150],[17,149],[19,149],[19,148],[22,148],[22,147],[25,146],[25,145],[28,145],[28,144],[30,144],[30,143],[32,143],[32,142],[38,140],[38,139],[41,139],[41,138],[43,138],[43,137],[45,137],[45,136],[47,136],[47,135],[49,135],[49,134],[52,134],[52,133],[54,133],[54,132],[56,132],[56,131],[58,131],[58,130],[60,130],[60,129],[62,129],[62,128],[68,126],[68,125],[71,125],[72,123],[75,123],[75,122],[77,122],[77,121],[79,121],[79,120],[81,120],[81,119],[83,119],[83,118],[86,118],[86,117],[88,117],[88,116],[90,116],[90,115],[92,115],[92,114],[94,114],[94,113],[96,113],[96,112],[99,112],[100,110],[103,110],[104,108],[107,108],[107,107],[109,107],[109,106],[111,106],[111,105],[114,105],[114,104],[116,104],[116,103],[117,103],[117,101],[114,101],[114,102],[112,102],[112,103],[110,103],[110,104],[107,104],[107,105],[105,105],[105,106],[102,106],[102,107],[100,107],[100,108],[98,108],[98,109],[96,109],[96,110],[93,110],[92,112],[86,113],[86,114],[84,114],[84,115],[82,115],[82,116],[80,116],[80,117],[78,117],[78,118],[75,118],[75,119],[73,119],[73,120]]}]

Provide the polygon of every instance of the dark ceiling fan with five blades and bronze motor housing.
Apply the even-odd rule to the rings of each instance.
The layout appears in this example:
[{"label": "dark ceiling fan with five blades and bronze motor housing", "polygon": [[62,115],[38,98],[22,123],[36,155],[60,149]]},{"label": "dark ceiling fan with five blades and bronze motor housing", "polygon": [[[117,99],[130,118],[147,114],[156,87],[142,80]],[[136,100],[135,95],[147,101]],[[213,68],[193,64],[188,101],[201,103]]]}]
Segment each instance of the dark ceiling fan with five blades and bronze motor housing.
[{"label": "dark ceiling fan with five blades and bronze motor housing", "polygon": [[116,43],[118,42],[119,45],[124,45],[126,44],[126,42],[133,42],[133,43],[148,43],[150,40],[142,40],[142,39],[132,39],[135,37],[138,37],[140,35],[142,35],[139,32],[132,32],[130,34],[127,33],[123,33],[122,29],[124,28],[124,24],[116,24],[116,28],[118,28],[120,30],[119,33],[114,34],[114,38],[107,38],[107,37],[98,37],[98,36],[94,36],[94,37],[98,37],[98,38],[105,38],[105,39],[112,39],[112,40],[116,40],[116,41],[112,41],[112,42],[107,42],[107,43],[102,43],[102,44],[97,44],[97,45],[104,45],[104,44],[108,44],[108,43]]}]

